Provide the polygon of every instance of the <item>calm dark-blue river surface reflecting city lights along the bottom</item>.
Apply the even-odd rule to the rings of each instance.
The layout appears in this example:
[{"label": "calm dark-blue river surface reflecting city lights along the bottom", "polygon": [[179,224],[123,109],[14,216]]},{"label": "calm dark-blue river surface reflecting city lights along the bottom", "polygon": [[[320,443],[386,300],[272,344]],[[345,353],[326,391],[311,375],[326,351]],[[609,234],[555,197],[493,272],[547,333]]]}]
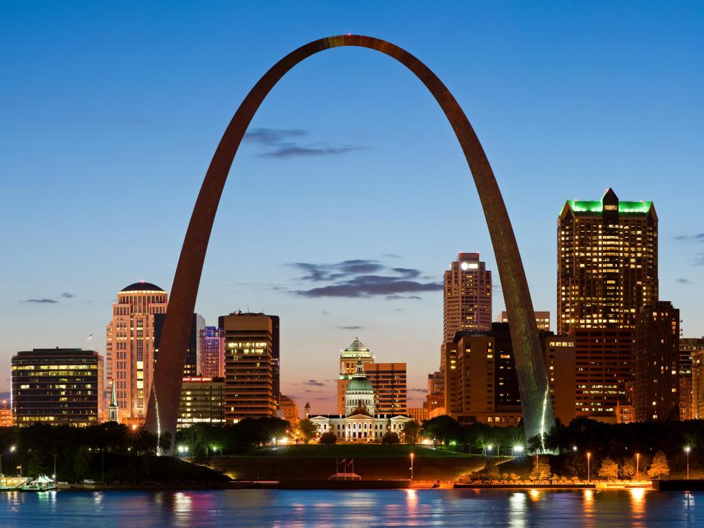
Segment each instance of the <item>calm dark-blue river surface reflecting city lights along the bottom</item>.
[{"label": "calm dark-blue river surface reflecting city lights along the bottom", "polygon": [[0,494],[0,527],[704,527],[704,492],[377,490]]}]

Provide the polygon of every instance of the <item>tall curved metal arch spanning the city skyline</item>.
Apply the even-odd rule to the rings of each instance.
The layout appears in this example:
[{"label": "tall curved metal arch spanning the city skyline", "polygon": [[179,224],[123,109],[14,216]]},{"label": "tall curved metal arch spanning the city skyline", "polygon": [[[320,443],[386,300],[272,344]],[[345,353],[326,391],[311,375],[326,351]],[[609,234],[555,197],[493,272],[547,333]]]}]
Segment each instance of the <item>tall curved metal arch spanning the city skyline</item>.
[{"label": "tall curved metal arch spanning the city skyline", "polygon": [[425,64],[390,42],[361,35],[327,37],[292,51],[254,85],[227,126],[213,160],[210,161],[181,249],[149,398],[147,429],[151,432],[170,432],[172,438],[175,438],[191,318],[196,306],[208,239],[227,174],[249,123],[267,94],[291,68],[320,51],[341,46],[374,49],[395,58],[425,84],[452,125],[477,186],[486,224],[489,226],[491,244],[494,246],[506,311],[511,322],[510,332],[526,437],[532,438],[548,432],[555,424],[555,417],[533,303],[513,227],[482,144],[458,102]]}]

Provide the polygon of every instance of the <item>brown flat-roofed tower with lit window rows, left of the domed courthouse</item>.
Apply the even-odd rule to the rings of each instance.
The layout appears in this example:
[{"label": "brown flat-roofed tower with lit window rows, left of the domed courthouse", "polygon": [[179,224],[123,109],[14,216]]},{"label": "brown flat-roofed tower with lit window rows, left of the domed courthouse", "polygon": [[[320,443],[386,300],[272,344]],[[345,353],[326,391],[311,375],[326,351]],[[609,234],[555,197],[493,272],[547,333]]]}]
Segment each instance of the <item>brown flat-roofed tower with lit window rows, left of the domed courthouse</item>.
[{"label": "brown flat-roofed tower with lit window rows, left of the domed courthouse", "polygon": [[218,319],[225,331],[225,420],[276,415],[275,318],[234,312]]}]

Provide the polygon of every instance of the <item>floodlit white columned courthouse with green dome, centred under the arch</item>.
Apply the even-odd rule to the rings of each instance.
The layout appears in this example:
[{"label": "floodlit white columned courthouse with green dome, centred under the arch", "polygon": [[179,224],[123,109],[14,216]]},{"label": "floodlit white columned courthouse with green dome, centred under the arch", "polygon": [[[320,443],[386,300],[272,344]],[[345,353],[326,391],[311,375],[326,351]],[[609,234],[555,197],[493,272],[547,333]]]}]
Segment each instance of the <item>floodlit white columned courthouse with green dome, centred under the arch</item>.
[{"label": "floodlit white columned courthouse with green dome, centred under the arch", "polygon": [[406,415],[375,414],[374,388],[367,379],[361,359],[357,370],[345,390],[344,415],[311,415],[310,421],[318,426],[320,434],[332,432],[338,440],[348,442],[382,441],[387,432],[401,437]]}]

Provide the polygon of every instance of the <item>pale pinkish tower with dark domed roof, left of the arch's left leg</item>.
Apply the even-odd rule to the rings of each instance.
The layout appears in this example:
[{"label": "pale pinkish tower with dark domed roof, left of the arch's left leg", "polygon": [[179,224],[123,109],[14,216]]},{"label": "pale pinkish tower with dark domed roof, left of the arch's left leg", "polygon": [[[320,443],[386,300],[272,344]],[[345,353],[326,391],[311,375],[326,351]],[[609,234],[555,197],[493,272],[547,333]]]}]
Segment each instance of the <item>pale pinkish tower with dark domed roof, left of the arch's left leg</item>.
[{"label": "pale pinkish tower with dark domed roof, left of the arch's left leg", "polygon": [[118,292],[106,328],[106,372],[115,381],[120,415],[143,421],[154,373],[154,316],[166,313],[168,295],[149,282]]}]

